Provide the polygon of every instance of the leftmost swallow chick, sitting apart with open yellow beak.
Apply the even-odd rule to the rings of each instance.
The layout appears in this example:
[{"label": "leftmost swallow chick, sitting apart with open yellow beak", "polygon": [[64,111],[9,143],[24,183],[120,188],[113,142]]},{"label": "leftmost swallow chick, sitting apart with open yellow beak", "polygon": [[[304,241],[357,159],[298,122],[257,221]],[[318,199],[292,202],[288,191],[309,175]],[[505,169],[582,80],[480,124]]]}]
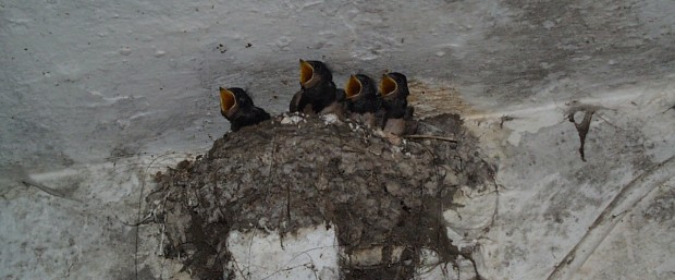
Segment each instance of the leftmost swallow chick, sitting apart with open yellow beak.
[{"label": "leftmost swallow chick, sitting apart with open yellow beak", "polygon": [[230,121],[233,132],[270,119],[270,114],[256,107],[246,90],[238,87],[220,88],[220,113]]}]

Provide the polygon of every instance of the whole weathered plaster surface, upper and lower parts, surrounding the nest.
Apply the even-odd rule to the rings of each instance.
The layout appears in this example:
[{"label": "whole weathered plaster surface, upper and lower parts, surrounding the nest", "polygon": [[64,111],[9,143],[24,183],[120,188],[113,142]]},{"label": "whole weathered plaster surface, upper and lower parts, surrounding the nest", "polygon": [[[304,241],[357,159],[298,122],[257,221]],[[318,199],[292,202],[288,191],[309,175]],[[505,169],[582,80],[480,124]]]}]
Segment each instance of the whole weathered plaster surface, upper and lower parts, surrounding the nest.
[{"label": "whole weathered plaster surface, upper and lower parts, surrounding the nest", "polygon": [[[204,153],[228,129],[219,86],[284,111],[298,58],[328,61],[338,84],[403,71],[422,84],[413,98],[427,114],[465,117],[500,165],[499,216],[487,234],[470,224],[449,234],[477,245],[486,277],[545,279],[588,244],[621,190],[647,178],[586,261],[551,279],[673,278],[664,178],[675,171],[645,174],[675,154],[674,10],[666,0],[2,1],[0,278],[133,279],[142,186],[186,157],[165,151]],[[601,107],[587,162],[565,118],[578,104]],[[76,186],[77,200],[22,186],[16,163],[51,187]],[[462,217],[483,215],[475,205]],[[151,268],[139,279],[184,279],[158,256],[159,229],[140,229],[138,261]]]}]

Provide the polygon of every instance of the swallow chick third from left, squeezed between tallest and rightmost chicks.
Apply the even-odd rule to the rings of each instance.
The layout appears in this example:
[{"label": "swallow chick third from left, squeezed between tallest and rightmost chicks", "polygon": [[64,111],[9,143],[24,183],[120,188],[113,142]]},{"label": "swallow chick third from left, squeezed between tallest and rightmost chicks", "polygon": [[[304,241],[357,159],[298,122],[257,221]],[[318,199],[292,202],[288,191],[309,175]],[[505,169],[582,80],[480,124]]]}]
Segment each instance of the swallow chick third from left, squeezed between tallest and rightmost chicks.
[{"label": "swallow chick third from left, squeezed between tallest and rightmost chicks", "polygon": [[349,119],[376,127],[382,100],[372,78],[364,74],[351,75],[344,93]]}]

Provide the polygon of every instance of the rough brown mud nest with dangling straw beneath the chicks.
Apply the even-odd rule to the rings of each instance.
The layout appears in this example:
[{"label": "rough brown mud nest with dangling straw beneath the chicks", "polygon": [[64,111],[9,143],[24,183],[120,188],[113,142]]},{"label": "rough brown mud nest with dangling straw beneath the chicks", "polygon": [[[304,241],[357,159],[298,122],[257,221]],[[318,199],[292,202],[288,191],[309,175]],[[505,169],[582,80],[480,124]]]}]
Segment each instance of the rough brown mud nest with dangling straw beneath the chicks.
[{"label": "rough brown mud nest with dangling straw beneath the chicks", "polygon": [[[300,115],[228,133],[156,175],[147,200],[165,226],[164,256],[180,256],[195,279],[232,278],[230,231],[284,236],[327,224],[336,228],[342,279],[412,279],[420,249],[474,263],[447,239],[442,214],[461,186],[492,187],[494,169],[458,115],[420,121],[418,135],[394,145],[356,123]],[[352,261],[376,246],[380,264]]]}]

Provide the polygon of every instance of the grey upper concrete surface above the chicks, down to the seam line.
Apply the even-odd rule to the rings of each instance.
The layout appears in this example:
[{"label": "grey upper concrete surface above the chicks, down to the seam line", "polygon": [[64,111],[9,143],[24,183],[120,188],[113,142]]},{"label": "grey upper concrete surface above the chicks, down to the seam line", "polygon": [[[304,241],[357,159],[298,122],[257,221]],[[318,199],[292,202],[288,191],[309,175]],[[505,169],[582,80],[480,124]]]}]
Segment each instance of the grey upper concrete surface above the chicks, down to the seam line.
[{"label": "grey upper concrete surface above the chicks, down to the seam line", "polygon": [[297,60],[440,80],[478,107],[665,80],[672,1],[3,1],[0,156],[59,167],[194,149],[228,130],[217,88],[274,113]]}]

